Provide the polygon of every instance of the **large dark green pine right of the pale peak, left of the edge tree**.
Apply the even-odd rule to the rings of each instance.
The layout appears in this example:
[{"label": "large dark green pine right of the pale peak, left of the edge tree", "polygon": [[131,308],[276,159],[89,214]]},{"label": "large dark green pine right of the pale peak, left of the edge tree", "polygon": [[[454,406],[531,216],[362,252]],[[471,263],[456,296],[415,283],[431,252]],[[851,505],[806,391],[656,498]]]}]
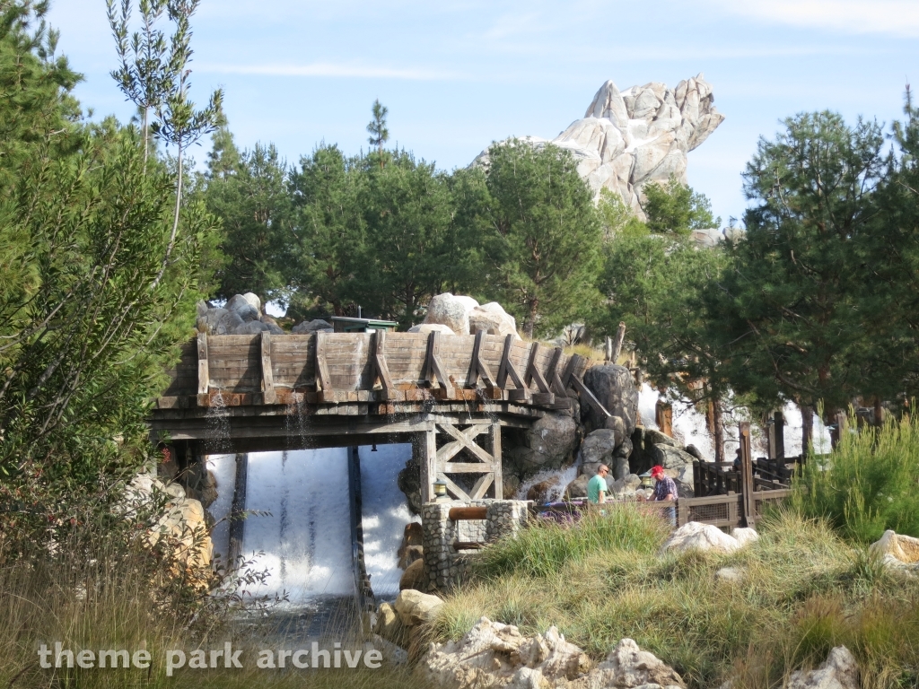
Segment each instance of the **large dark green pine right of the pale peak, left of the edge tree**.
[{"label": "large dark green pine right of the pale peak, left of the edge tree", "polygon": [[883,137],[877,124],[850,128],[828,112],[786,128],[747,165],[754,206],[714,298],[735,390],[832,410],[900,390],[889,371],[864,367],[893,306],[871,295],[876,264],[865,260],[883,235],[872,197],[886,174]]}]

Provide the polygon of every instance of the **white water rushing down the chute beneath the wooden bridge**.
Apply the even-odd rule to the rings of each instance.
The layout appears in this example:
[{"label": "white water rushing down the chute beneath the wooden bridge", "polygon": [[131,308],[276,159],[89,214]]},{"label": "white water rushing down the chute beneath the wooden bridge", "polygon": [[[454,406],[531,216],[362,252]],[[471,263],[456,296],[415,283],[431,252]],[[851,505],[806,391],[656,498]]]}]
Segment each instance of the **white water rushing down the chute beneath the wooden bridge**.
[{"label": "white water rushing down the chute beneath the wooden bridge", "polygon": [[[404,526],[413,519],[396,480],[412,446],[380,445],[377,451],[362,446],[358,452],[370,582],[377,595],[394,595],[402,575],[396,551]],[[250,593],[286,593],[291,604],[354,593],[347,449],[255,452],[248,461],[245,509],[269,513],[245,521],[243,554],[254,560],[252,570],[268,572],[265,585]],[[235,458],[209,457],[208,469],[217,479],[219,496],[210,514],[221,520],[233,503]],[[212,538],[215,552],[225,557],[226,522],[214,528]]]}]

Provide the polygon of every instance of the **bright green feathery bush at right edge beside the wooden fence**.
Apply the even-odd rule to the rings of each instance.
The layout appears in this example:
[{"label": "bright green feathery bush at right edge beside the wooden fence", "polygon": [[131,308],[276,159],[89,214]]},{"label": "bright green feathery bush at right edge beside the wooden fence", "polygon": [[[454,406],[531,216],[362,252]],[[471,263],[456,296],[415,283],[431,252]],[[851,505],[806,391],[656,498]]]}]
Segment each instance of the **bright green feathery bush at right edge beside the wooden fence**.
[{"label": "bright green feathery bush at right edge beside the wooden fence", "polygon": [[845,434],[829,456],[810,457],[796,503],[856,543],[876,541],[887,529],[919,537],[917,485],[919,422],[904,416],[882,429]]}]

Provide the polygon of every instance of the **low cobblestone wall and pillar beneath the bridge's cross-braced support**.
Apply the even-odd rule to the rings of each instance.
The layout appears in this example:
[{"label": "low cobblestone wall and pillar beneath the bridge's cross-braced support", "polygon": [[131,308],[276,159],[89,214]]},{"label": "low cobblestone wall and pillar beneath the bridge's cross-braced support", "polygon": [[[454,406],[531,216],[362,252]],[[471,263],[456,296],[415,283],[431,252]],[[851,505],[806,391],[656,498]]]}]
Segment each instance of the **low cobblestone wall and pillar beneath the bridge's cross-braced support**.
[{"label": "low cobblestone wall and pillar beneath the bridge's cross-braced support", "polygon": [[[453,507],[485,507],[484,520],[451,521]],[[457,552],[453,544],[460,542],[487,543],[512,536],[526,524],[527,503],[521,500],[459,500],[425,503],[421,510],[425,541],[425,574],[428,590],[448,591],[465,576],[470,550]]]}]

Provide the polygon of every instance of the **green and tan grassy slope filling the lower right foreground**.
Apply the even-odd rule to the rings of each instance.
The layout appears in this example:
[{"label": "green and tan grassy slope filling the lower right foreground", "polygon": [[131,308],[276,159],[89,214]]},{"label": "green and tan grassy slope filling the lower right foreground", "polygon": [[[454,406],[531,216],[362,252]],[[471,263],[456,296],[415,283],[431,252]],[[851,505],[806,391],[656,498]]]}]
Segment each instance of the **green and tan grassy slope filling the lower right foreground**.
[{"label": "green and tan grassy slope filling the lower right foreground", "polygon": [[[825,520],[778,510],[759,530],[731,555],[662,555],[660,520],[635,511],[527,529],[482,551],[480,578],[448,597],[437,634],[459,638],[481,616],[526,634],[554,625],[597,661],[630,637],[698,689],[729,678],[772,689],[839,643],[866,687],[914,678],[919,584],[892,580]],[[716,578],[724,567],[741,581]]]}]

